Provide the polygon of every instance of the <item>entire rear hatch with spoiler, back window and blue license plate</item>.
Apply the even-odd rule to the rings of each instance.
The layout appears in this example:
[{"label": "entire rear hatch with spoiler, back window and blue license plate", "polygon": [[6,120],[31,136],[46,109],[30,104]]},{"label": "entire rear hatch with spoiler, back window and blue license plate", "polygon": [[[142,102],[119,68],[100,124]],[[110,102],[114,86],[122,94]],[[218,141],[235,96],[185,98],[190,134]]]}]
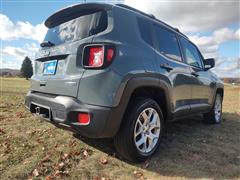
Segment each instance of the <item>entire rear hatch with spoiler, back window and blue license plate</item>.
[{"label": "entire rear hatch with spoiler, back window and blue license plate", "polygon": [[47,34],[36,54],[31,90],[76,97],[84,69],[82,49],[107,29],[111,5],[78,4],[50,16]]}]

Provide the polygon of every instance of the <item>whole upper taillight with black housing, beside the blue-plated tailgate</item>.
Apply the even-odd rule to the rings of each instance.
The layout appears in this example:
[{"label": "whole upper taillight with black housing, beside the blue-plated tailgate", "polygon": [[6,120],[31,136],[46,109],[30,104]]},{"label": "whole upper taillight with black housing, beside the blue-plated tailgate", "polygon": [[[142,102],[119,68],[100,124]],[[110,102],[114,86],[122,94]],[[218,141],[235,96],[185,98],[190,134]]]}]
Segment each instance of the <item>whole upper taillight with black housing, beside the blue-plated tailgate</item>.
[{"label": "whole upper taillight with black housing, beside the blue-plated tailgate", "polygon": [[115,49],[110,45],[86,46],[83,54],[85,68],[105,68],[114,58]]}]

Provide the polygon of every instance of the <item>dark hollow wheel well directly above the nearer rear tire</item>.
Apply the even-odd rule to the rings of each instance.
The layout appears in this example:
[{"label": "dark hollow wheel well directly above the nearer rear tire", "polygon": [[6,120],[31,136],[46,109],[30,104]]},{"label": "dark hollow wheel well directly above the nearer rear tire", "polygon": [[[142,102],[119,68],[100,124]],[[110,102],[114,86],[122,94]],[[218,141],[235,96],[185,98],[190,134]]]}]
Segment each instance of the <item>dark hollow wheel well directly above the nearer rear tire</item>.
[{"label": "dark hollow wheel well directly above the nearer rear tire", "polygon": [[133,91],[129,103],[139,97],[155,100],[162,110],[164,121],[167,119],[167,99],[163,89],[156,87],[139,87]]}]

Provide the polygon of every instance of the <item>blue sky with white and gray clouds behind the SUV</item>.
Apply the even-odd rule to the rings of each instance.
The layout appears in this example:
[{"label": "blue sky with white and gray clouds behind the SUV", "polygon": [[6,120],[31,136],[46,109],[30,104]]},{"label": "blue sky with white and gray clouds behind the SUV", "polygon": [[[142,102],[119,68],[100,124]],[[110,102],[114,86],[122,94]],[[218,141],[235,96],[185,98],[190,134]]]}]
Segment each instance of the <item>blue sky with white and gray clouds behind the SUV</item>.
[{"label": "blue sky with white and gray clouds behind the SUV", "polygon": [[[34,54],[44,39],[44,21],[74,0],[0,0],[0,68],[20,69],[25,56]],[[87,0],[87,2],[96,2]],[[220,77],[240,77],[240,1],[113,0],[125,3],[177,27],[202,52],[215,58]]]}]

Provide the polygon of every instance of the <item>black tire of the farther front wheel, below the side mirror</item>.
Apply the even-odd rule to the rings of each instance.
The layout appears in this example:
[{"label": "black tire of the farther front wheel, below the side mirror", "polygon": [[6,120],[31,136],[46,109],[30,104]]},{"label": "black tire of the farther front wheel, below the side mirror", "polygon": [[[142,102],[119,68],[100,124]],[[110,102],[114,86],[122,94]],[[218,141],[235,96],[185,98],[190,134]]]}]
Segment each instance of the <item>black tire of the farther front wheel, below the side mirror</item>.
[{"label": "black tire of the farther front wheel, below the side mirror", "polygon": [[[220,101],[220,116],[219,118],[216,117],[215,115],[215,108],[216,108],[216,103],[217,101]],[[222,96],[220,94],[216,94],[215,100],[214,100],[214,105],[211,109],[210,112],[203,114],[204,117],[204,122],[208,124],[220,124],[222,122]]]}]

